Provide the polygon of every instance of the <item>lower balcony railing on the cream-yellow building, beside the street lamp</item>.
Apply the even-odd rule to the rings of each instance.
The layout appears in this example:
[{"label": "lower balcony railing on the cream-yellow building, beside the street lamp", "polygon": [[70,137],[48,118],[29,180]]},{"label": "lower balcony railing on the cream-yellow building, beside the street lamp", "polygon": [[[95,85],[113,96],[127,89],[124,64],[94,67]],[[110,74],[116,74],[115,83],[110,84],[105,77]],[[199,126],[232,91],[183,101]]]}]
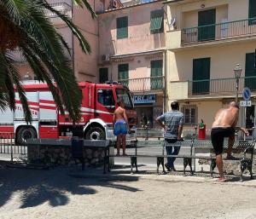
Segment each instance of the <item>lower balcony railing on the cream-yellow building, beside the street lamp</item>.
[{"label": "lower balcony railing on the cream-yellow building, beside the street lamp", "polygon": [[[239,78],[238,92],[245,87],[256,91],[256,76]],[[236,78],[189,81],[189,95],[236,95]]]}]

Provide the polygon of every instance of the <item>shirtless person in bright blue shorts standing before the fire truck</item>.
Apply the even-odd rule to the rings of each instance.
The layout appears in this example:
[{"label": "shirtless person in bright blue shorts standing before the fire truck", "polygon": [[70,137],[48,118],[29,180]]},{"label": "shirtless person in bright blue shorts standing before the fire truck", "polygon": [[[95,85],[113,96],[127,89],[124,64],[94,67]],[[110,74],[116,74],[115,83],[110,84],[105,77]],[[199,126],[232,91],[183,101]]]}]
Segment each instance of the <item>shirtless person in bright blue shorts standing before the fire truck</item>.
[{"label": "shirtless person in bright blue shorts standing before the fire truck", "polygon": [[126,148],[126,134],[127,130],[130,130],[128,119],[125,112],[125,102],[124,100],[119,100],[117,102],[118,108],[113,112],[113,134],[117,136],[116,148],[117,156],[119,156],[120,145],[123,147],[123,155],[125,156]]}]

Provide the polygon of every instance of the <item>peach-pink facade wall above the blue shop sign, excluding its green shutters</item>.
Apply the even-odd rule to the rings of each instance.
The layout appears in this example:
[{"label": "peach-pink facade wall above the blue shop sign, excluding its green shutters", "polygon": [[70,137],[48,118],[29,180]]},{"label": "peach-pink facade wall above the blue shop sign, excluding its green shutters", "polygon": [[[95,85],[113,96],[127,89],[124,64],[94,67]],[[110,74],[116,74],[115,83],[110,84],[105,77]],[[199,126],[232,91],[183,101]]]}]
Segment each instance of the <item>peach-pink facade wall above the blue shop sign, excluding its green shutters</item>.
[{"label": "peach-pink facade wall above the blue shop sign, excluding its green shutters", "polygon": [[[165,79],[160,89],[150,89],[151,61],[163,61],[162,76],[165,76],[166,57],[166,15],[163,17],[164,31],[150,32],[150,14],[163,7],[163,1],[144,3],[122,9],[113,9],[98,15],[100,62],[99,68],[108,68],[108,80],[119,80],[119,65],[128,64],[129,89],[136,98],[144,95],[154,95],[154,103],[136,104],[137,121],[143,114],[150,120],[150,127],[154,127],[154,118],[163,112]],[[117,19],[128,17],[128,37],[117,37]],[[102,58],[103,57],[103,58]],[[107,57],[107,58],[106,58]]]}]

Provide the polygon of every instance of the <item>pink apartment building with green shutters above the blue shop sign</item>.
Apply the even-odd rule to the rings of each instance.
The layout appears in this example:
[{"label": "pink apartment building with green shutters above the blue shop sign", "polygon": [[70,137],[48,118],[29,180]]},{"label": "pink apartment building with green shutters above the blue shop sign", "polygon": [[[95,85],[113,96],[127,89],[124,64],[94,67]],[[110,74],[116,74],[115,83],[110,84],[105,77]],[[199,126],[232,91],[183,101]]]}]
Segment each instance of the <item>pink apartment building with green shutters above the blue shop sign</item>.
[{"label": "pink apartment building with green shutters above the blue shop sign", "polygon": [[137,121],[149,126],[163,112],[166,14],[163,1],[139,3],[98,14],[100,82],[125,84],[134,93]]}]

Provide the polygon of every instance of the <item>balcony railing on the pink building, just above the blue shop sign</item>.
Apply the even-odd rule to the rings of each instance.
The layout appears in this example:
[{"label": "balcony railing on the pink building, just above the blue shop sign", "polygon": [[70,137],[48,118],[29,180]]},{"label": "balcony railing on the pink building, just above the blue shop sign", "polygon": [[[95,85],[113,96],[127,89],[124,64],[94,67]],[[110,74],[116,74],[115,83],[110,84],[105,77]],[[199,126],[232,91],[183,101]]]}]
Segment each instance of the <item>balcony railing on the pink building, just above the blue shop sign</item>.
[{"label": "balcony railing on the pink building, just above the blue shop sign", "polygon": [[165,89],[165,77],[151,77],[151,78],[133,78],[119,80],[120,84],[124,84],[132,92],[144,91],[160,91]]}]

